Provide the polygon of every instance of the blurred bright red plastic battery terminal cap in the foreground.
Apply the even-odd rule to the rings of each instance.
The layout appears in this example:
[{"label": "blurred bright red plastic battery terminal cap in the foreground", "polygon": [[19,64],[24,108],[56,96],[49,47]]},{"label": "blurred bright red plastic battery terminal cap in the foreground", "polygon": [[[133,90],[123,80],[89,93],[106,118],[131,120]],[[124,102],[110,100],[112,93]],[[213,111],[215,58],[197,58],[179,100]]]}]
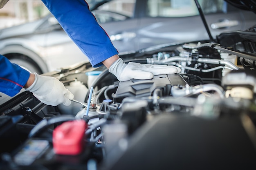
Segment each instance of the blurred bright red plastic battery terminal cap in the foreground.
[{"label": "blurred bright red plastic battery terminal cap in the foreground", "polygon": [[60,124],[53,131],[54,152],[59,155],[78,155],[85,146],[85,130],[87,124],[84,120],[73,120]]}]

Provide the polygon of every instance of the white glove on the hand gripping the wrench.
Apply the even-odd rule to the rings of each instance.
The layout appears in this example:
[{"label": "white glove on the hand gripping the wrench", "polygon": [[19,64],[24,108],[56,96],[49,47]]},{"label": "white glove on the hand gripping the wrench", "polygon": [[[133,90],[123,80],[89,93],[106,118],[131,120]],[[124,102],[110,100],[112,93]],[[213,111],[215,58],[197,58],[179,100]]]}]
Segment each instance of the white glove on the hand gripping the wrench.
[{"label": "white glove on the hand gripping the wrench", "polygon": [[62,103],[68,106],[71,104],[70,99],[73,99],[74,95],[57,78],[33,74],[35,74],[35,81],[25,90],[32,92],[46,105],[57,106]]}]

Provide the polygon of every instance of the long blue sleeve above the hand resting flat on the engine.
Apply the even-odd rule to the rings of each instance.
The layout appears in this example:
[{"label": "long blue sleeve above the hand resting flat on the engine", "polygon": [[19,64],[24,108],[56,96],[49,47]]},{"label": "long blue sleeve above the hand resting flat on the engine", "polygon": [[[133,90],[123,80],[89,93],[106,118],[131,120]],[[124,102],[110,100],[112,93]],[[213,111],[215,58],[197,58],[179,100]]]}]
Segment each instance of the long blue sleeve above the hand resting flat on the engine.
[{"label": "long blue sleeve above the hand resting flat on the engine", "polygon": [[42,0],[93,67],[118,54],[85,0]]}]

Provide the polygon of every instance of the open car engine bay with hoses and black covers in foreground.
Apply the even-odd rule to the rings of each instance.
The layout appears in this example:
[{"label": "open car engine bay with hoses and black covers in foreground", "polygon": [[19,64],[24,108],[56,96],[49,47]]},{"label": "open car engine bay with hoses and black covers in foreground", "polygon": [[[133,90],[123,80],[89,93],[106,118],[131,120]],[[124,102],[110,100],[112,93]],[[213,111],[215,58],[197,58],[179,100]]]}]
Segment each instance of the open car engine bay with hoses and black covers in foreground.
[{"label": "open car engine bay with hoses and black covers in foreground", "polygon": [[1,169],[255,169],[253,52],[199,42],[121,57],[182,71],[119,82],[81,63],[45,74],[74,94],[70,106],[1,94]]}]

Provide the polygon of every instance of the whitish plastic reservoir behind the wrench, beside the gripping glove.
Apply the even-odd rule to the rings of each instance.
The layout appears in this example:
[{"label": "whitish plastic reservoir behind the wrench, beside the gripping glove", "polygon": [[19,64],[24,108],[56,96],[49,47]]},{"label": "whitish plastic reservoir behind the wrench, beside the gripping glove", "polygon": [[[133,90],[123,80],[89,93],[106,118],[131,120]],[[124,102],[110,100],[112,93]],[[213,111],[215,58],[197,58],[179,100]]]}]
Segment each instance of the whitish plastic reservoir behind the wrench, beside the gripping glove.
[{"label": "whitish plastic reservoir behind the wrench, beside the gripping glove", "polygon": [[[71,82],[70,85],[65,86],[66,89],[68,89],[72,94],[74,94],[74,99],[84,102],[86,94],[88,92],[88,88],[81,82],[81,81],[74,81]],[[60,109],[61,113],[63,114],[71,114],[76,115],[81,109],[83,109],[83,106],[76,102],[71,102],[71,105],[64,106],[64,105],[58,105],[58,109]]]}]

